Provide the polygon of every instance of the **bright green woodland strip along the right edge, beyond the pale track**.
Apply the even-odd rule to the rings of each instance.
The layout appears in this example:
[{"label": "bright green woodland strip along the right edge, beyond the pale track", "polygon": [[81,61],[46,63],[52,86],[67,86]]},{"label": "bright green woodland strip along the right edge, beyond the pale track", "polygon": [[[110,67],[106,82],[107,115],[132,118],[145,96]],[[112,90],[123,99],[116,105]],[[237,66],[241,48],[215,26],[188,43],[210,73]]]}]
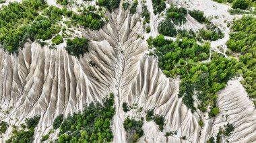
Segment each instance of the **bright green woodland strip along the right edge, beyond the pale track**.
[{"label": "bright green woodland strip along the right edge, beyond the pale track", "polygon": [[[256,98],[256,18],[252,16],[244,16],[233,22],[230,40],[226,43],[232,52],[238,54],[238,58],[243,62],[245,72],[243,73],[243,81],[247,93],[250,97]],[[255,101],[256,106],[256,101]]]}]

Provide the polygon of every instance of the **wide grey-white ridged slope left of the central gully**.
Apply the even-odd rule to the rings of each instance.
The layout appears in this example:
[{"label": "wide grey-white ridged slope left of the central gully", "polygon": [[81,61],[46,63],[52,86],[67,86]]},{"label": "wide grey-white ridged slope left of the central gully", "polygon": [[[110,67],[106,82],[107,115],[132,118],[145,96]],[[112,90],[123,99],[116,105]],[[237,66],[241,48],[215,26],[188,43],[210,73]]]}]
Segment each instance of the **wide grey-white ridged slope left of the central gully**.
[{"label": "wide grey-white ridged slope left of the central gully", "polygon": [[[113,87],[115,52],[106,42],[92,42],[90,53],[77,59],[65,50],[26,44],[19,55],[1,50],[1,119],[18,125],[26,117],[41,115],[38,134],[59,113],[73,113],[93,101],[102,101]],[[101,55],[101,56],[100,56]],[[96,66],[90,66],[90,61]]]}]

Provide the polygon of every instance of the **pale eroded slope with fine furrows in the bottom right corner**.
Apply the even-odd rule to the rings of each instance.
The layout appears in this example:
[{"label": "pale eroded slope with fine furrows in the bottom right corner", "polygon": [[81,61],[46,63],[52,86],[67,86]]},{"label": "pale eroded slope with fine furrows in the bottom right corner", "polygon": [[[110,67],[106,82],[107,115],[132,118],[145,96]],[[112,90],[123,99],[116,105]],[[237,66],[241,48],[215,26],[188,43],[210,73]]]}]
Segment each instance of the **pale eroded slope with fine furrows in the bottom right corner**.
[{"label": "pale eroded slope with fine furrows in the bottom right corner", "polygon": [[213,133],[217,134],[220,126],[230,123],[235,127],[234,134],[228,138],[230,142],[256,142],[255,106],[240,79],[230,81],[218,94],[220,114],[212,124]]}]

